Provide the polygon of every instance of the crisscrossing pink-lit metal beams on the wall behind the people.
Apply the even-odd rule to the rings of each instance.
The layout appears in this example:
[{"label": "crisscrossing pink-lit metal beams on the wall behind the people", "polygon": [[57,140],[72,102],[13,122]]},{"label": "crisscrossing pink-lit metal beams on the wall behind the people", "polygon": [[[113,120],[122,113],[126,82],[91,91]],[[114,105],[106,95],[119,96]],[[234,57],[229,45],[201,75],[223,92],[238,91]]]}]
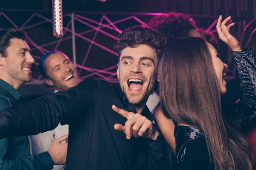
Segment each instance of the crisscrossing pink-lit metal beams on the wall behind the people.
[{"label": "crisscrossing pink-lit metal beams on the wall behind the people", "polygon": [[[152,15],[151,13],[150,14],[147,14],[147,15]],[[159,15],[159,14],[157,14]],[[32,28],[32,27],[35,27],[35,26],[39,26],[39,25],[42,25],[44,23],[52,23],[52,19],[49,19],[47,17],[44,17],[43,15],[41,14],[38,14],[38,13],[33,13],[24,23],[22,26],[18,27],[5,13],[3,12],[0,12],[0,17],[5,17],[15,28],[21,28],[23,30],[26,30],[28,28]],[[29,21],[32,20],[34,17],[39,17],[41,19],[43,19],[44,21],[41,21],[41,22],[38,22],[38,23],[34,23],[32,25],[28,25]],[[72,32],[72,30],[69,28],[70,27],[70,24],[71,24],[71,14],[64,14],[63,17],[70,17],[70,21],[67,23],[67,25],[64,27],[64,34],[66,34],[66,32]],[[91,77],[93,75],[97,75],[103,79],[106,79],[106,80],[115,80],[113,79],[112,77],[113,76],[116,76],[116,73],[113,73],[109,70],[112,70],[114,68],[117,67],[117,65],[113,65],[109,68],[105,68],[103,70],[99,70],[99,69],[96,69],[96,68],[89,68],[89,67],[85,67],[85,63],[86,63],[86,60],[87,60],[87,57],[90,53],[90,50],[92,48],[93,45],[96,45],[102,49],[104,49],[105,51],[108,51],[110,52],[111,54],[114,54],[117,56],[117,53],[107,47],[105,47],[104,45],[101,45],[97,42],[95,42],[95,38],[98,34],[98,32],[102,33],[102,34],[105,34],[106,36],[114,39],[114,40],[117,40],[117,37],[106,32],[106,31],[103,31],[102,28],[108,28],[108,29],[111,29],[113,31],[116,31],[118,34],[120,34],[122,32],[122,30],[120,30],[116,24],[117,23],[121,23],[121,22],[124,22],[124,21],[127,21],[127,20],[136,20],[138,23],[140,23],[141,25],[146,25],[142,20],[140,20],[139,18],[135,17],[135,16],[129,16],[129,17],[125,17],[121,20],[116,20],[116,21],[111,21],[107,16],[105,15],[102,15],[100,21],[96,21],[96,20],[92,20],[90,18],[87,18],[87,17],[84,17],[84,16],[81,16],[81,15],[78,15],[78,14],[74,14],[74,20],[76,20],[77,22],[79,23],[82,23],[88,27],[90,27],[91,29],[90,30],[87,30],[87,31],[84,31],[84,32],[81,32],[81,33],[75,33],[76,37],[80,37],[81,39],[83,40],[86,40],[87,42],[90,42],[90,45],[89,45],[89,48],[87,49],[87,53],[85,54],[84,56],[84,59],[83,59],[83,62],[81,63],[81,65],[77,64],[77,67],[79,68],[79,76],[81,74],[81,71],[82,70],[86,70],[86,71],[89,71],[91,74],[88,74],[86,76],[83,76],[83,77],[80,77],[81,79],[85,79],[87,77]],[[108,22],[108,24],[104,24],[102,23],[103,20],[106,20]],[[93,26],[91,25],[90,23],[94,23],[94,24],[97,24],[98,26]],[[209,28],[207,28],[207,31],[209,33],[215,33],[216,30],[212,30],[212,28],[215,26],[215,24],[217,23],[217,20],[215,20],[210,26]],[[194,23],[195,24],[195,23]],[[196,26],[196,25],[195,25]],[[1,28],[0,28],[1,29]],[[85,37],[84,35],[85,34],[88,34],[90,32],[94,32],[94,35],[93,35],[93,38],[92,40],[90,40],[89,38]],[[52,41],[52,42],[47,42],[45,44],[42,44],[42,45],[37,45],[31,38],[28,37],[27,39],[27,42],[33,46],[35,46],[34,48],[31,48],[31,50],[38,50],[40,51],[42,54],[44,54],[45,52],[49,51],[48,49],[44,48],[48,45],[52,45],[52,44],[56,44],[55,45],[55,48],[54,49],[57,49],[58,46],[60,45],[61,41],[63,40],[69,40],[71,39],[72,36],[68,36],[68,37],[61,37],[59,40],[55,40],[55,41]],[[35,58],[38,58],[40,59],[40,57],[38,56],[34,56]],[[230,60],[229,60],[230,61]],[[231,62],[231,61],[230,61]],[[35,62],[34,63],[35,65],[38,65],[38,62]],[[232,75],[235,75],[236,71],[235,70],[228,70]],[[108,74],[109,76],[104,76],[102,74]],[[40,80],[41,79],[41,75],[37,78],[37,79],[34,79],[34,80]]]}]

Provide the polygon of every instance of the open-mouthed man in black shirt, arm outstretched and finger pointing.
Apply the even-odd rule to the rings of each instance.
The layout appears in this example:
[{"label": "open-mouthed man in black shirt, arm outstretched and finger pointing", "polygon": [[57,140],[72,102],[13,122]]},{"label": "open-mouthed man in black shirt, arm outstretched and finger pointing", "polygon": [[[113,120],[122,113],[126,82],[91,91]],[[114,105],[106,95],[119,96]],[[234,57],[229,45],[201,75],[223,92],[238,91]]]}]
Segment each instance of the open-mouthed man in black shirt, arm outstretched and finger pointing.
[{"label": "open-mouthed man in black shirt, arm outstretched and finger pointing", "polygon": [[[119,85],[112,87],[90,78],[67,92],[8,108],[0,113],[0,138],[38,134],[60,122],[69,125],[67,170],[164,169],[164,140],[148,123],[147,119],[153,119],[145,105],[157,82],[158,61],[165,44],[165,37],[152,28],[126,29],[116,43]],[[134,116],[137,120],[129,127],[136,133],[146,123],[147,135],[136,138],[119,131],[127,120],[114,112],[112,105],[141,114]]]}]

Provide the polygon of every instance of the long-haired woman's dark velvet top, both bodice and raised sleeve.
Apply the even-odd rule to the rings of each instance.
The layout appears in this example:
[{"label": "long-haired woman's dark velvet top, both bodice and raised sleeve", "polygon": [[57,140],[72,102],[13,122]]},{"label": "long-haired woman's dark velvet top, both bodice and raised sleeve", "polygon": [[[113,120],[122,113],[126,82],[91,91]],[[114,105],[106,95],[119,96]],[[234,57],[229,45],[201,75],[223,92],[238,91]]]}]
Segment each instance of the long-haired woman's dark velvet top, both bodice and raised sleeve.
[{"label": "long-haired woman's dark velvet top, both bodice and raised sleeve", "polygon": [[[232,52],[242,83],[243,100],[234,105],[233,122],[236,125],[256,116],[256,65],[251,50]],[[176,159],[180,170],[214,170],[204,134],[197,127],[178,126],[175,123]]]}]

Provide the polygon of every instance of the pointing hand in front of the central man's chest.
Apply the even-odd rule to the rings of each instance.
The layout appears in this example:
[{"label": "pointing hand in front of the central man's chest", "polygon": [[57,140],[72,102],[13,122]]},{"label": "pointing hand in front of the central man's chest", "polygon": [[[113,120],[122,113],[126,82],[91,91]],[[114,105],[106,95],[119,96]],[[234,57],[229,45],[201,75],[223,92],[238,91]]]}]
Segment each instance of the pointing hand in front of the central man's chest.
[{"label": "pointing hand in front of the central man's chest", "polygon": [[114,125],[115,130],[124,132],[127,139],[131,139],[131,136],[157,139],[159,132],[145,116],[119,109],[115,105],[112,106],[112,109],[127,119],[125,126],[118,123]]}]

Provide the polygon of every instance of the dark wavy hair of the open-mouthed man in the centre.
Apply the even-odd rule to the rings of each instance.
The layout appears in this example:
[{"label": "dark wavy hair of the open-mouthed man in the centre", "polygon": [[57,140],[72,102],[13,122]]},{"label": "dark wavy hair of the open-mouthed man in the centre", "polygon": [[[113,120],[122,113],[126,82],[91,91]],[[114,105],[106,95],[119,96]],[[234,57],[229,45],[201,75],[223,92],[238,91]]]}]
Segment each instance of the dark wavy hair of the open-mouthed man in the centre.
[{"label": "dark wavy hair of the open-mouthed man in the centre", "polygon": [[160,61],[163,49],[166,45],[166,38],[157,30],[148,26],[133,26],[125,29],[119,36],[115,45],[115,50],[118,52],[118,63],[120,54],[126,47],[135,48],[137,45],[148,45],[157,53],[157,59]]}]

